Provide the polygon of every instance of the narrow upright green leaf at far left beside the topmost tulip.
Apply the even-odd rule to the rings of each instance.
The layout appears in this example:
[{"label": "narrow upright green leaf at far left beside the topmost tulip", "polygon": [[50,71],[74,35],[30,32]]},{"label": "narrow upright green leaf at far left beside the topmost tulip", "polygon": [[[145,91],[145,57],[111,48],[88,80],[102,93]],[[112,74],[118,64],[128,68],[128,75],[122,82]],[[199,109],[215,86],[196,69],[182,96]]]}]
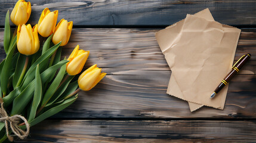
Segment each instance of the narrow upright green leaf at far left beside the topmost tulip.
[{"label": "narrow upright green leaf at far left beside the topmost tulip", "polygon": [[8,53],[10,40],[11,40],[10,11],[8,10],[5,15],[5,24],[4,24],[4,51],[6,54]]}]

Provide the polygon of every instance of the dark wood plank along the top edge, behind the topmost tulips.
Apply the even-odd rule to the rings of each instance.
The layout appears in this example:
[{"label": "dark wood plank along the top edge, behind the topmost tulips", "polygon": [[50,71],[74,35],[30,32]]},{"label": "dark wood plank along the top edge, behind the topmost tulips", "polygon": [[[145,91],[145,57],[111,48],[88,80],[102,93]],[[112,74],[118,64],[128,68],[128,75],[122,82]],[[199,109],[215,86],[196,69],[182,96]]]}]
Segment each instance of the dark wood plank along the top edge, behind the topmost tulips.
[{"label": "dark wood plank along the top edge, behind the topmost tulips", "polygon": [[[0,1],[0,26],[4,26],[7,10],[16,0]],[[152,26],[170,25],[205,8],[211,10],[216,21],[223,24],[256,24],[256,1],[70,1],[33,0],[29,23],[36,24],[44,8],[58,10],[61,18],[73,20],[75,25],[94,26]]]}]

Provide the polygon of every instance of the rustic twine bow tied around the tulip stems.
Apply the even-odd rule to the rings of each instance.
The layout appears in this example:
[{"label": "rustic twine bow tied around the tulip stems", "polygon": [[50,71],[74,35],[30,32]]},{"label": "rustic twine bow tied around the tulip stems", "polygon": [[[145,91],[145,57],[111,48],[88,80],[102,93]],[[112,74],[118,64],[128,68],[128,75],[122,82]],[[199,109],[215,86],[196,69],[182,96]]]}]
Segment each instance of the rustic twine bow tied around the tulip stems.
[{"label": "rustic twine bow tied around the tulip stems", "polygon": [[[0,98],[0,121],[5,123],[5,130],[6,130],[6,135],[9,139],[9,141],[13,141],[13,136],[9,134],[9,127],[11,128],[11,131],[18,136],[20,139],[24,139],[29,135],[29,123],[27,122],[27,119],[21,115],[14,115],[14,116],[8,116],[7,112],[4,109],[4,101],[2,98]],[[26,125],[26,132],[18,126],[18,123],[20,123],[20,119],[24,121]]]}]

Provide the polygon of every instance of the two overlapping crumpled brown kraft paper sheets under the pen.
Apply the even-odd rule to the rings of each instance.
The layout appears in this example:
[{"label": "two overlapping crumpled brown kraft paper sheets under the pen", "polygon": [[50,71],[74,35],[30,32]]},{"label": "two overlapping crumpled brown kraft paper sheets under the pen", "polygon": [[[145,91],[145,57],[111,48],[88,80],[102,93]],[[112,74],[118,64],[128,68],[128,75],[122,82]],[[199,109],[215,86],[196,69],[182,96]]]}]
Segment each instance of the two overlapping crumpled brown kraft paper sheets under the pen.
[{"label": "two overlapping crumpled brown kraft paper sheets under the pen", "polygon": [[188,101],[191,111],[223,109],[228,86],[209,97],[232,67],[239,35],[240,29],[214,21],[208,8],[156,32],[172,70],[167,93]]}]

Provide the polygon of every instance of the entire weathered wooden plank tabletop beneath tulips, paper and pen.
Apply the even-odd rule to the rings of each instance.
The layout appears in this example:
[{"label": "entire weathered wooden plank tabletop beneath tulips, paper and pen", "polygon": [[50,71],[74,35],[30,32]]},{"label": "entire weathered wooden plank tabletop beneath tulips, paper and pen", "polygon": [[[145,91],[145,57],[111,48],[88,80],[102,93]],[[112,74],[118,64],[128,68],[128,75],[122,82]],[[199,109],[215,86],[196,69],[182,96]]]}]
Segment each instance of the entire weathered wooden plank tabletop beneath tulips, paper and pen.
[{"label": "entire weathered wooden plank tabletop beneath tulips, paper and pen", "polygon": [[[16,1],[0,1],[0,54],[4,17]],[[73,21],[63,57],[77,44],[90,50],[85,69],[107,73],[94,89],[32,127],[27,142],[256,142],[256,1],[69,1],[33,0],[28,21],[44,8]],[[166,94],[171,71],[155,32],[209,8],[216,21],[242,29],[235,61],[251,61],[230,82],[224,110],[190,113],[186,101]]]}]

